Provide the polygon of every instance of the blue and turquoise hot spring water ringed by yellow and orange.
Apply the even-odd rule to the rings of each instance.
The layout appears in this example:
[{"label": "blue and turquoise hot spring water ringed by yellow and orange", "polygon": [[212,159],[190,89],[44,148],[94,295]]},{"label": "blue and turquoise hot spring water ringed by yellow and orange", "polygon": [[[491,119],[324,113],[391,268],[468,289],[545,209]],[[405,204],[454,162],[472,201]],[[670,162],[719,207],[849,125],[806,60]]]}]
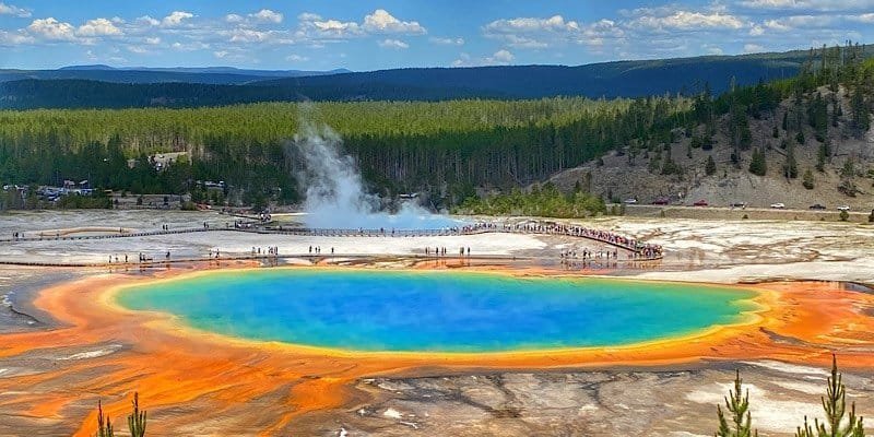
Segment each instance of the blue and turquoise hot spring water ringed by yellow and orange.
[{"label": "blue and turquoise hot spring water ringed by yellow and orange", "polygon": [[194,328],[354,351],[497,352],[637,343],[736,322],[753,292],[457,272],[256,270],[156,282],[118,302]]}]

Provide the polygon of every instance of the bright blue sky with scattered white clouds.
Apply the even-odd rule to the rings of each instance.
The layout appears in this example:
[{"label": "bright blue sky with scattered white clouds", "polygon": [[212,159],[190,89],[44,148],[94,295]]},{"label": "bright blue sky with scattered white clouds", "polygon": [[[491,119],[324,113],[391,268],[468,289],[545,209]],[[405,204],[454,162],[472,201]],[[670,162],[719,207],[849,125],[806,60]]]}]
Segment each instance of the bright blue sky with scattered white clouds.
[{"label": "bright blue sky with scattered white clouds", "polygon": [[874,0],[0,0],[0,68],[354,71],[874,43]]}]

